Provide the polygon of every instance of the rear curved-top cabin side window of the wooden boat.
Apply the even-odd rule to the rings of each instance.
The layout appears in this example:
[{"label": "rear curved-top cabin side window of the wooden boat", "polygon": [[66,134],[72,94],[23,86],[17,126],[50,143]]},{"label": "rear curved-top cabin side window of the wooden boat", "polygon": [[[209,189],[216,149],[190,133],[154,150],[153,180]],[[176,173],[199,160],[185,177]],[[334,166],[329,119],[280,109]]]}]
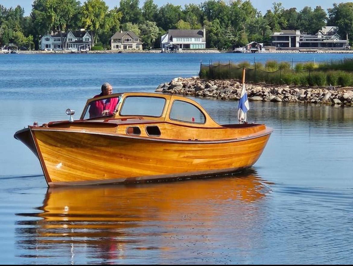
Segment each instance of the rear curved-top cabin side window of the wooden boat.
[{"label": "rear curved-top cabin side window of the wooden boat", "polygon": [[171,120],[197,124],[204,124],[206,121],[205,115],[195,105],[178,100],[173,102],[169,118]]}]

